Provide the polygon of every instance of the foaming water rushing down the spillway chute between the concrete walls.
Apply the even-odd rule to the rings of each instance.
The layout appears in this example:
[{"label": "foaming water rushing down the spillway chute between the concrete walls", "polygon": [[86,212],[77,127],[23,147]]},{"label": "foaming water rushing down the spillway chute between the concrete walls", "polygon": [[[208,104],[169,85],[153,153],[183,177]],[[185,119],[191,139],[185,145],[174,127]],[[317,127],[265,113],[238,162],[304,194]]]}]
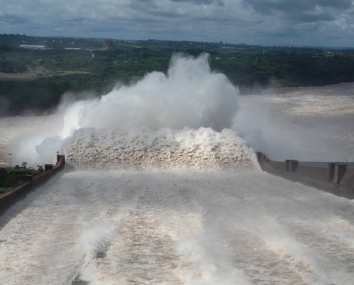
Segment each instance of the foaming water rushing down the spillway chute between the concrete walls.
[{"label": "foaming water rushing down the spillway chute between the concrete walls", "polygon": [[264,173],[64,170],[0,218],[2,284],[351,284],[354,205]]}]

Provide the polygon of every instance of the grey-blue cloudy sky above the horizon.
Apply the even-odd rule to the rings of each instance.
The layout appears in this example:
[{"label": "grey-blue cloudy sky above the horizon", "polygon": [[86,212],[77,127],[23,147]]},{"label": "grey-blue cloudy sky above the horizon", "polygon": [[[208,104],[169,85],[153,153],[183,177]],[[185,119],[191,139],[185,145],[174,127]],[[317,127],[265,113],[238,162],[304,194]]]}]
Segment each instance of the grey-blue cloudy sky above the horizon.
[{"label": "grey-blue cloudy sky above the horizon", "polygon": [[0,0],[0,33],[354,47],[352,0]]}]

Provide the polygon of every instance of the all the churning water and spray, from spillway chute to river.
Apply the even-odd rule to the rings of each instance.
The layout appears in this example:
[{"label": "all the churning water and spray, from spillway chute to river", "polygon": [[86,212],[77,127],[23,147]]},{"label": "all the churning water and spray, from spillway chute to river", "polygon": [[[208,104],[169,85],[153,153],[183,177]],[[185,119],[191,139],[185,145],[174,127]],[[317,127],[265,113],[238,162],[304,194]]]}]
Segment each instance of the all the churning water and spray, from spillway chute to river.
[{"label": "all the churning water and spray, from spillway chute to river", "polygon": [[354,160],[353,86],[240,97],[206,55],[179,57],[101,100],[1,119],[6,153],[62,148],[70,165],[0,217],[0,284],[353,285],[354,203],[263,173],[249,146]]}]

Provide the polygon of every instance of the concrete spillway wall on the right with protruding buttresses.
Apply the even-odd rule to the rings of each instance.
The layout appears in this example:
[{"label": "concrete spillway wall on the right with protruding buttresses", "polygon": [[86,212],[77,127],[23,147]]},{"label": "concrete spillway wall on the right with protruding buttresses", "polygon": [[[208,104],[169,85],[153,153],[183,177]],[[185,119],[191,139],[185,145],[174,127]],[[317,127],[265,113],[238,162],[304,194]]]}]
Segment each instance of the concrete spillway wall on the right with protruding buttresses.
[{"label": "concrete spillway wall on the right with protruding buttresses", "polygon": [[257,159],[263,171],[340,197],[354,199],[353,162],[301,162],[291,159],[273,161],[261,152],[257,152]]}]

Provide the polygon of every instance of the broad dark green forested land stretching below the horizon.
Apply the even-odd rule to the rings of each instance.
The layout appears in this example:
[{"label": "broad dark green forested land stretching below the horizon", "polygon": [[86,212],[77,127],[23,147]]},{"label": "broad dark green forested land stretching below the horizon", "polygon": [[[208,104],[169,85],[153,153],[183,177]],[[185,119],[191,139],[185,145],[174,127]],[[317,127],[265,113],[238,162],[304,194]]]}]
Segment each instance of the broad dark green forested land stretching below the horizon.
[{"label": "broad dark green forested land stretching below the horizon", "polygon": [[354,81],[352,50],[156,40],[111,44],[112,49],[103,50],[102,39],[0,35],[0,115],[53,108],[68,91],[76,98],[83,91],[103,95],[118,81],[128,84],[148,72],[166,72],[174,53],[209,53],[212,70],[223,72],[241,90]]}]

